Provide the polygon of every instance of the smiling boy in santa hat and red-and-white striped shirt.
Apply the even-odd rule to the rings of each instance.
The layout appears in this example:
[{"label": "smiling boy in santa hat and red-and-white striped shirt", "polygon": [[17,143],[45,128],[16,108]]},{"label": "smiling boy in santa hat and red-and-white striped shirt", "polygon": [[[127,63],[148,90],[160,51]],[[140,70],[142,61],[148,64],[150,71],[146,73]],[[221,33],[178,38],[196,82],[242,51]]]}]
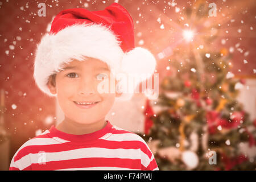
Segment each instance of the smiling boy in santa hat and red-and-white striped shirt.
[{"label": "smiling boy in santa hat and red-and-white striped shirt", "polygon": [[[24,143],[10,170],[159,170],[141,137],[105,121],[115,98],[130,98],[120,92],[125,82],[117,73],[154,69],[154,56],[134,48],[133,21],[118,3],[102,11],[61,11],[38,45],[34,78],[57,98],[65,118]],[[122,89],[110,92],[117,82]]]}]

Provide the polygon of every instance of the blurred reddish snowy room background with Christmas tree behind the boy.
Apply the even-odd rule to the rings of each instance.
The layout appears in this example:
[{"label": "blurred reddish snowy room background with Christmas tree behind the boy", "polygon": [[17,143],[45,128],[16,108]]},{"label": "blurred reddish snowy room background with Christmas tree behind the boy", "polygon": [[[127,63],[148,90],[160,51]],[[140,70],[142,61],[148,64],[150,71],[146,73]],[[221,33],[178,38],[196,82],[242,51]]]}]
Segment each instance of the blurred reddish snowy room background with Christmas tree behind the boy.
[{"label": "blurred reddish snowy room background with Christmas tree behind the boy", "polygon": [[[138,93],[106,116],[140,135],[160,170],[255,170],[255,1],[0,1],[0,170],[64,115],[32,78],[36,44],[64,9],[118,2],[149,49],[159,97]],[[42,6],[46,7],[45,16]]]}]

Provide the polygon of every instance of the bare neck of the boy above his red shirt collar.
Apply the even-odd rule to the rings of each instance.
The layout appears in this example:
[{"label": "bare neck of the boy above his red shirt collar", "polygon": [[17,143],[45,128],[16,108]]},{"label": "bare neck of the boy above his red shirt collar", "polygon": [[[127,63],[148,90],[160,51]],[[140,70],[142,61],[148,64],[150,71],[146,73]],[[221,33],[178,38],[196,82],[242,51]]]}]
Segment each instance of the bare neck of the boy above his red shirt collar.
[{"label": "bare neck of the boy above his red shirt collar", "polygon": [[100,121],[90,124],[81,124],[65,118],[61,123],[59,123],[59,125],[56,126],[56,129],[68,134],[82,135],[101,130],[106,126],[106,124],[107,122],[105,119],[101,119]]}]

